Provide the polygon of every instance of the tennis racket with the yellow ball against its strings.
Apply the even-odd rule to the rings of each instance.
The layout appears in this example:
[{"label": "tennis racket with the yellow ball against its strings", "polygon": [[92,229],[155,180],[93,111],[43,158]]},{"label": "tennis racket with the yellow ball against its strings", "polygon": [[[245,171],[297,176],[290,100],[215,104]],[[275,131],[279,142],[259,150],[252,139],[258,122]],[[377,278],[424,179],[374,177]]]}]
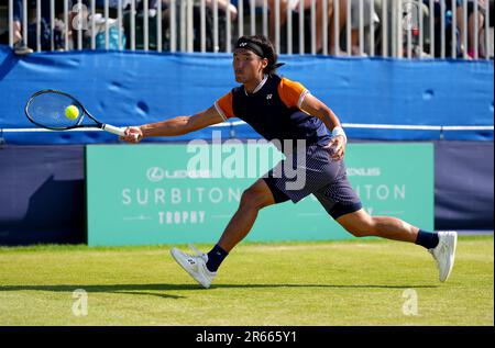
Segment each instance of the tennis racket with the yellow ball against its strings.
[{"label": "tennis racket with the yellow ball against its strings", "polygon": [[[120,136],[125,135],[125,128],[98,121],[76,98],[56,90],[35,92],[25,104],[24,112],[32,123],[52,131],[98,127]],[[85,122],[85,116],[90,121]]]}]

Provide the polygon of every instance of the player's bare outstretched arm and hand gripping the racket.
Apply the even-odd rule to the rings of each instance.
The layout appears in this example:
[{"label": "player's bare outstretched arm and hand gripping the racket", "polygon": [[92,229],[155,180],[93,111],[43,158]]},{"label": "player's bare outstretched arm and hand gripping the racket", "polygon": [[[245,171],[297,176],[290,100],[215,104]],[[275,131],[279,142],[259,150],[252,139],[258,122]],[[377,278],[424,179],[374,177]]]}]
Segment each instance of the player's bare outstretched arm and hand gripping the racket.
[{"label": "player's bare outstretched arm and hand gripping the racket", "polygon": [[166,121],[128,127],[125,136],[121,136],[121,139],[128,143],[139,143],[148,136],[184,135],[221,122],[223,122],[222,116],[215,106],[211,106],[193,116],[177,116]]}]

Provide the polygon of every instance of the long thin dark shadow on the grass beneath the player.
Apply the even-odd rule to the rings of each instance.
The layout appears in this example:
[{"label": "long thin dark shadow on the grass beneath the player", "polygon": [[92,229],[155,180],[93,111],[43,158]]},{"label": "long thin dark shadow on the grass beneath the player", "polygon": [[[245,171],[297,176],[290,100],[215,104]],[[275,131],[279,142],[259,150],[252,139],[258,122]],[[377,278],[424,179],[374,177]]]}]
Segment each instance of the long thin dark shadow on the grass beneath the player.
[{"label": "long thin dark shadow on the grass beneath the player", "polygon": [[[213,284],[211,289],[279,289],[279,288],[320,288],[320,289],[435,289],[438,285],[387,285],[387,284]],[[61,284],[61,285],[0,285],[2,291],[53,291],[73,292],[82,289],[87,292],[109,292],[132,295],[153,295],[163,299],[185,299],[182,295],[158,293],[157,291],[189,291],[202,290],[199,284]]]}]

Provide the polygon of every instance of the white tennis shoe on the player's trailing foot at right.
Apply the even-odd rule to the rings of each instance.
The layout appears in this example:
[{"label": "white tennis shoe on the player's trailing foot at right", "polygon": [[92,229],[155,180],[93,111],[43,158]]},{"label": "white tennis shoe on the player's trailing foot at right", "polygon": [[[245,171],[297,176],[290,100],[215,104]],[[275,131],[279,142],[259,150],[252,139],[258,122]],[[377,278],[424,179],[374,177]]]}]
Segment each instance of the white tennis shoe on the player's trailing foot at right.
[{"label": "white tennis shoe on the player's trailing foot at right", "polygon": [[458,233],[455,231],[441,231],[438,233],[438,245],[428,251],[433,256],[440,271],[440,281],[446,281],[455,258],[455,246],[458,244]]}]

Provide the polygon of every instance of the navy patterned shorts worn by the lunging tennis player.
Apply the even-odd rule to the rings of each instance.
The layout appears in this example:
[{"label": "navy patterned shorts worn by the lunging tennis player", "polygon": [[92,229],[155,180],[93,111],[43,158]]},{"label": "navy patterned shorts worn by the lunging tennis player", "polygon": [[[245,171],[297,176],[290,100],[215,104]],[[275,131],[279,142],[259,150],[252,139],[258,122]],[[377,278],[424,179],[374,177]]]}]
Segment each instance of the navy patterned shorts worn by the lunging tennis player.
[{"label": "navy patterned shorts worn by the lunging tennis player", "polygon": [[286,159],[263,176],[276,203],[297,203],[312,193],[333,218],[362,207],[343,160],[331,159],[328,149],[310,145],[285,155]]}]

